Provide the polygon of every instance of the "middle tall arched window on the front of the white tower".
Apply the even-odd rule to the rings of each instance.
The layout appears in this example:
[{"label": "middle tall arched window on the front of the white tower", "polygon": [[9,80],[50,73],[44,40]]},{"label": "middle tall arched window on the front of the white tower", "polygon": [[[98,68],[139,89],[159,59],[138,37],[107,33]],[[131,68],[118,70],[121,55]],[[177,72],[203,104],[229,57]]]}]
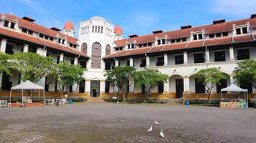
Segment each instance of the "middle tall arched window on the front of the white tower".
[{"label": "middle tall arched window on the front of the white tower", "polygon": [[98,42],[91,46],[91,68],[101,69],[101,44]]}]

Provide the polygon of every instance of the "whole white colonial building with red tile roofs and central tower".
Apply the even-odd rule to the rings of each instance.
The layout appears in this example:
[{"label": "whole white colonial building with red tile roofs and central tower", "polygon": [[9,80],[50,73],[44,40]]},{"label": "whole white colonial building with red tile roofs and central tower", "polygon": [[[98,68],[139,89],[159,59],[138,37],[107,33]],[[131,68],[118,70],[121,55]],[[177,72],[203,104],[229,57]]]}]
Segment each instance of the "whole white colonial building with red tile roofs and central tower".
[{"label": "whole white colonial building with red tile roofs and central tower", "polygon": [[[237,62],[256,59],[256,15],[249,19],[213,21],[205,26],[180,26],[174,31],[152,31],[152,34],[137,36],[133,34],[123,39],[120,26],[114,26],[106,19],[94,16],[81,21],[78,39],[68,21],[63,31],[47,29],[34,23],[29,17],[22,19],[9,14],[1,14],[0,39],[1,52],[36,52],[42,56],[54,57],[56,63],[68,61],[86,67],[83,81],[78,85],[81,94],[87,97],[112,96],[114,88],[106,81],[106,70],[115,66],[134,66],[136,69],[159,69],[168,74],[166,83],[159,83],[153,94],[165,97],[198,97],[205,94],[204,87],[191,77],[200,69],[216,67],[227,79],[214,89],[218,94],[221,88],[234,82],[232,71]],[[15,73],[15,71],[14,71]],[[12,77],[2,74],[2,91],[19,84],[19,74]],[[56,79],[42,79],[40,82],[48,92],[58,92]],[[70,92],[76,92],[70,87]],[[241,83],[240,87],[255,89],[252,85]],[[130,95],[145,92],[136,83],[129,87]]]}]

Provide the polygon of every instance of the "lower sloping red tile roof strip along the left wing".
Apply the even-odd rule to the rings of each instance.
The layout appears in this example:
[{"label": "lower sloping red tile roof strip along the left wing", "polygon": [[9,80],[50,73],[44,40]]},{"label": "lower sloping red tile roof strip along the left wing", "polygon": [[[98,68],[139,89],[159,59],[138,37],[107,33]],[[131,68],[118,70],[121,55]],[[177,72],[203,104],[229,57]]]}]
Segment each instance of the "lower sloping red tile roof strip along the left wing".
[{"label": "lower sloping red tile roof strip along the left wing", "polygon": [[47,41],[45,39],[40,39],[40,38],[37,38],[35,36],[29,36],[27,34],[22,34],[22,33],[19,33],[17,31],[11,30],[11,29],[5,29],[5,28],[0,27],[0,34],[5,35],[5,36],[10,36],[10,37],[13,37],[15,39],[29,41],[31,43],[39,44],[39,45],[42,45],[42,46],[48,46],[52,49],[58,49],[60,51],[65,51],[65,52],[68,52],[68,53],[71,53],[71,54],[76,54],[76,55],[88,57],[86,54],[83,54],[81,51],[78,51],[77,49],[73,49],[73,48],[70,48],[68,46],[63,46],[63,45],[57,44],[57,43],[52,42],[52,41]]}]

